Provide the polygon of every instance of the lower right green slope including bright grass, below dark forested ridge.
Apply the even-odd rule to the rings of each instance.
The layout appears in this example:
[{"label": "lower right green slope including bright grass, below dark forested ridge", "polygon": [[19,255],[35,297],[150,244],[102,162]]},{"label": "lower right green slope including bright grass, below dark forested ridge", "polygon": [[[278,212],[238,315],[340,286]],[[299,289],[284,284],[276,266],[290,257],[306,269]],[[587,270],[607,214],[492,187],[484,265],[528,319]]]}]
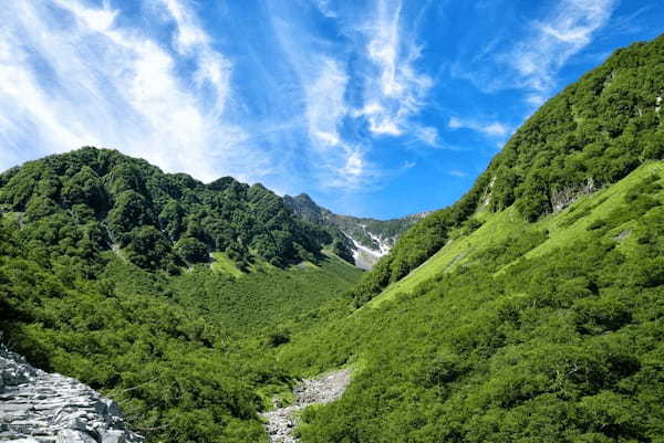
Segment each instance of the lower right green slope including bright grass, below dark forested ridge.
[{"label": "lower right green slope including bright grass, below dark forested ridge", "polygon": [[486,212],[412,282],[294,337],[293,370],[356,368],[302,442],[662,441],[663,178],[647,162],[537,223]]}]

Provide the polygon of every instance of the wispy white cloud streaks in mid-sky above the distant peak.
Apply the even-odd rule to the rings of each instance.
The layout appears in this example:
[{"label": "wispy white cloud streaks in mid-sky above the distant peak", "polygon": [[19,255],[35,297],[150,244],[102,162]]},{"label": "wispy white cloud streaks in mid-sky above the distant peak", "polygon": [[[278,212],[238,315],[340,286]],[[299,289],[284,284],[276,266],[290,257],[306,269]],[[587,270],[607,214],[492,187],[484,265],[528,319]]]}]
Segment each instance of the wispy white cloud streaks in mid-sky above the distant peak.
[{"label": "wispy white cloud streaks in mid-sky above the distant peak", "polygon": [[375,11],[350,3],[332,9],[326,0],[311,3],[335,19],[343,39],[312,38],[315,30],[300,8],[267,2],[278,48],[301,91],[287,107],[304,117],[305,156],[319,184],[365,190],[398,172],[367,159],[376,137],[409,135],[437,143],[434,128],[412,122],[433,82],[416,70],[419,49],[404,35],[401,2],[380,0]]}]

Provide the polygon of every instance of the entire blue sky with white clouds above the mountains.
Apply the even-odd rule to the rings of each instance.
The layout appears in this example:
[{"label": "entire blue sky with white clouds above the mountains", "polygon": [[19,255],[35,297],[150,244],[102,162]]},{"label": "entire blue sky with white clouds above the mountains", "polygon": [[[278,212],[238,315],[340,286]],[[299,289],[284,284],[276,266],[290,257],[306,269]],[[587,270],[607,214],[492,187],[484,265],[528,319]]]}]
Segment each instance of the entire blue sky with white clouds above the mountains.
[{"label": "entire blue sky with white clouds above the mountains", "polygon": [[4,0],[0,169],[83,145],[376,218],[442,208],[661,0]]}]

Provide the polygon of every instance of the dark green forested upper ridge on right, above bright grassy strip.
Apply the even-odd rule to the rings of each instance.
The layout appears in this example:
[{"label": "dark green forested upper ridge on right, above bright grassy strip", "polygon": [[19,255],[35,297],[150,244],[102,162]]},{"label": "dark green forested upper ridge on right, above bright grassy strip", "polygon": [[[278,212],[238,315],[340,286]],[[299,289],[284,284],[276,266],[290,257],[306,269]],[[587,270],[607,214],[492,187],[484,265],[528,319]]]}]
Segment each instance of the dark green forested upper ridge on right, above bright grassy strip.
[{"label": "dark green forested upper ridge on right, above bright grassy strip", "polygon": [[355,289],[362,305],[435,254],[477,209],[513,205],[529,221],[664,157],[664,35],[616,51],[521,126],[454,205],[407,231]]}]

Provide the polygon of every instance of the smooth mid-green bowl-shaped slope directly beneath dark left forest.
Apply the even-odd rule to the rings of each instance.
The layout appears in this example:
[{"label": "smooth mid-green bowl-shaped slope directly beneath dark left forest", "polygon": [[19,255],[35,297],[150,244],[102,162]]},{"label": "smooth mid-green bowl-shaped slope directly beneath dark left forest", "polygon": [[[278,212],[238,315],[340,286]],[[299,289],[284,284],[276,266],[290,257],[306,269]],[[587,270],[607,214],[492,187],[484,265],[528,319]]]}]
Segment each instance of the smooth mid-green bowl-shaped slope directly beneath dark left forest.
[{"label": "smooth mid-green bowl-shaped slope directly beneath dark left forest", "polygon": [[247,273],[224,255],[215,253],[215,260],[211,271],[196,265],[170,277],[113,260],[105,276],[122,294],[165,297],[229,334],[260,338],[269,331],[307,328],[324,315],[325,306],[347,305],[345,294],[362,274],[333,254],[286,270],[256,260]]}]

